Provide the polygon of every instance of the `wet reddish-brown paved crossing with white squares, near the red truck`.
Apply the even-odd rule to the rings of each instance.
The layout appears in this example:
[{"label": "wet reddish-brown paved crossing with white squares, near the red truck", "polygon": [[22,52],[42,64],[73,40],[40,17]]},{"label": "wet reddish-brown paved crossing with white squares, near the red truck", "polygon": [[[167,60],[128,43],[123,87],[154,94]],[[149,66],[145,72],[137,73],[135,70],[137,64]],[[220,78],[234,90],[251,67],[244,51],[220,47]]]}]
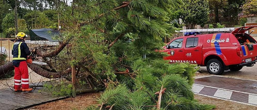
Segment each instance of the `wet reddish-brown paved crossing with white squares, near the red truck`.
[{"label": "wet reddish-brown paved crossing with white squares, near the red truck", "polygon": [[257,106],[257,80],[210,75],[196,78],[195,94]]}]

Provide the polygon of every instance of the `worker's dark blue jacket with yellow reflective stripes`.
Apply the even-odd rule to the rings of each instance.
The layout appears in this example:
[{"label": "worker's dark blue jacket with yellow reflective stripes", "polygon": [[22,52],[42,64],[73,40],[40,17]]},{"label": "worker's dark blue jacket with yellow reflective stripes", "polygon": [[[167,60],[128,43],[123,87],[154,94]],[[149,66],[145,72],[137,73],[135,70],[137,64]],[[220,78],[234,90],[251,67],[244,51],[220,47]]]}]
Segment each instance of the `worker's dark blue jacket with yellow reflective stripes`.
[{"label": "worker's dark blue jacket with yellow reflective stripes", "polygon": [[12,46],[12,63],[15,67],[19,67],[20,62],[26,61],[27,56],[30,56],[32,53],[29,51],[28,45],[24,40],[18,39]]}]

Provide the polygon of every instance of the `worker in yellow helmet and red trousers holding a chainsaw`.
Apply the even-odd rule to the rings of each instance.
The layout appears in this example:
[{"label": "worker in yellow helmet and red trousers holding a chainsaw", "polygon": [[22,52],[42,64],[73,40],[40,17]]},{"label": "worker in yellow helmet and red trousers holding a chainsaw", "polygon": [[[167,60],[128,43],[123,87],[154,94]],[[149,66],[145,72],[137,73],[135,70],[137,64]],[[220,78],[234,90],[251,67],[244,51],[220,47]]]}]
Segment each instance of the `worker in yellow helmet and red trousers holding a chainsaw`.
[{"label": "worker in yellow helmet and red trousers holding a chainsaw", "polygon": [[[13,44],[12,63],[14,65],[14,91],[28,92],[32,91],[29,88],[29,71],[27,63],[32,63],[28,45],[25,43],[25,38],[28,37],[24,32],[17,34],[17,41]],[[22,86],[22,87],[21,87]]]}]

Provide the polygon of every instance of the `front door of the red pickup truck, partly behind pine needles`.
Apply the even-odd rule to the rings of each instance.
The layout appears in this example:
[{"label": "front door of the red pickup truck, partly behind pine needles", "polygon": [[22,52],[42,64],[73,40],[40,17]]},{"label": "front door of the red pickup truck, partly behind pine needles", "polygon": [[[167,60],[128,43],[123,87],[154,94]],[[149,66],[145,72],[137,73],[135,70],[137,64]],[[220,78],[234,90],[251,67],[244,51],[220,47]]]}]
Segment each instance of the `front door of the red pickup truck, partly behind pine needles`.
[{"label": "front door of the red pickup truck, partly behind pine needles", "polygon": [[170,60],[170,63],[181,62],[183,60],[183,40],[184,38],[178,38],[167,44],[163,52],[167,52],[170,56],[164,57],[164,60]]}]

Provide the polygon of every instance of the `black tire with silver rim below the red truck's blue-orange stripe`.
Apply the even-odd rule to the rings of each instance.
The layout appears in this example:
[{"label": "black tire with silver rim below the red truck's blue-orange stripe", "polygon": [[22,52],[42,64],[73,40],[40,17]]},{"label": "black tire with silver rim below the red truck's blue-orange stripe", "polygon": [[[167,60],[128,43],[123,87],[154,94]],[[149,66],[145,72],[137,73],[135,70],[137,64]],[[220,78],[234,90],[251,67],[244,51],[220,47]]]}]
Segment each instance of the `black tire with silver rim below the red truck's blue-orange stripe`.
[{"label": "black tire with silver rim below the red truck's blue-orange stripe", "polygon": [[220,75],[225,71],[223,62],[218,59],[211,59],[207,62],[207,71],[210,74]]}]

